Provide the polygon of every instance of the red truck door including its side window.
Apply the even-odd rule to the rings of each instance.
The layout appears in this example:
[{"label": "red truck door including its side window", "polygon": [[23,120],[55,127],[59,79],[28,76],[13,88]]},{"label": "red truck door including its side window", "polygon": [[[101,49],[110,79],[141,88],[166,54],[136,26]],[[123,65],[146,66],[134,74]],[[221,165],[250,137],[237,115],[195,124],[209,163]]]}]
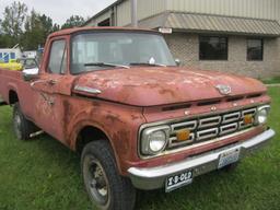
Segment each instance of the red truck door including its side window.
[{"label": "red truck door including its side window", "polygon": [[[65,141],[65,102],[71,95],[74,77],[69,74],[69,49],[66,38],[56,38],[48,47],[39,79],[32,83],[35,90],[35,122],[46,132]],[[46,62],[46,63],[44,63]]]}]

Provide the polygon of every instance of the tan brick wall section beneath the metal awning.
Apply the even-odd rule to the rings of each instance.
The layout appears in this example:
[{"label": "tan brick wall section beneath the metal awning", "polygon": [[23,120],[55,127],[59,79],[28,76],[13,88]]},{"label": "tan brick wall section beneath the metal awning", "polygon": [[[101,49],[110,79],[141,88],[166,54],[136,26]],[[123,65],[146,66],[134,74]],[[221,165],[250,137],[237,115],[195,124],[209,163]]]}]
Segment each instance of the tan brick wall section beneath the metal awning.
[{"label": "tan brick wall section beneath the metal awning", "polygon": [[199,36],[174,33],[165,36],[175,58],[184,66],[205,70],[226,71],[253,78],[280,75],[280,38],[264,39],[264,61],[247,61],[247,37],[229,36],[228,61],[200,61]]}]

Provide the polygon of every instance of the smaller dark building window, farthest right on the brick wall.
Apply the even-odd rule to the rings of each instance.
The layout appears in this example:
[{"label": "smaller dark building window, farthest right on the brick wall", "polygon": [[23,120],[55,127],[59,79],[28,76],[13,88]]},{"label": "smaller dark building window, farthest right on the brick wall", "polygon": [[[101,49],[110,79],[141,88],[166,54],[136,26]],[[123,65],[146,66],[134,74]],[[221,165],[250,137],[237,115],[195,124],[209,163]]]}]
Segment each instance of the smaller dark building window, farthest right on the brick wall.
[{"label": "smaller dark building window, farthest right on the brick wall", "polygon": [[254,61],[264,59],[264,40],[261,38],[247,39],[247,60]]}]

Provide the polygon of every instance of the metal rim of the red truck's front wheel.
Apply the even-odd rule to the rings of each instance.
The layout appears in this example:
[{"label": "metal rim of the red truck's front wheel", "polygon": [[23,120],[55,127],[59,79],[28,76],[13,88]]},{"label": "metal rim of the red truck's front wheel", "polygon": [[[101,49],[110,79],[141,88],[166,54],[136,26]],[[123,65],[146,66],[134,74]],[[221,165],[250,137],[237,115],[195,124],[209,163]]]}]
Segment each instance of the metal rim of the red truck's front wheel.
[{"label": "metal rim of the red truck's front wheel", "polygon": [[85,158],[85,185],[91,198],[100,206],[107,206],[109,200],[108,179],[100,161],[93,156]]}]

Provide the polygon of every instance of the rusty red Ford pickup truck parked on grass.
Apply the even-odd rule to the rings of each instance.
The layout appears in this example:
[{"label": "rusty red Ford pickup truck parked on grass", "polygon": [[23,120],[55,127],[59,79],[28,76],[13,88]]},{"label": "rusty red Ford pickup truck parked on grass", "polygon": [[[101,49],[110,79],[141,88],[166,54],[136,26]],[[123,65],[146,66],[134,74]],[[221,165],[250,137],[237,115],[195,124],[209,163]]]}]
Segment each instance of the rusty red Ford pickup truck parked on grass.
[{"label": "rusty red Ford pickup truck parked on grass", "polygon": [[43,130],[81,154],[91,200],[133,209],[136,189],[172,191],[232,168],[275,136],[257,80],[178,67],[154,31],[51,34],[39,71],[0,70],[14,131]]}]

